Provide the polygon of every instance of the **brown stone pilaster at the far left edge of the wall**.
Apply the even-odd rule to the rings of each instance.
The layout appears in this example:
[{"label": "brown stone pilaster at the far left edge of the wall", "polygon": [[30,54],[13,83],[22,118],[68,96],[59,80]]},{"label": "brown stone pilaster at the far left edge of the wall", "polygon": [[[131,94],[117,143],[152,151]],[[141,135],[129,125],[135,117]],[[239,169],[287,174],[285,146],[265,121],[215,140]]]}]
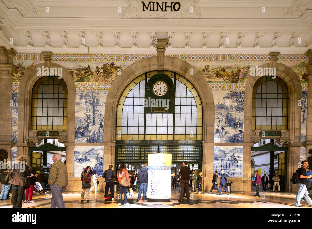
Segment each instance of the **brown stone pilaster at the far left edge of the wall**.
[{"label": "brown stone pilaster at the far left edge of the wall", "polygon": [[17,54],[14,49],[7,49],[0,46],[0,91],[1,91],[1,132],[0,149],[8,153],[8,160],[11,160],[12,134],[12,74],[14,71],[13,57]]}]

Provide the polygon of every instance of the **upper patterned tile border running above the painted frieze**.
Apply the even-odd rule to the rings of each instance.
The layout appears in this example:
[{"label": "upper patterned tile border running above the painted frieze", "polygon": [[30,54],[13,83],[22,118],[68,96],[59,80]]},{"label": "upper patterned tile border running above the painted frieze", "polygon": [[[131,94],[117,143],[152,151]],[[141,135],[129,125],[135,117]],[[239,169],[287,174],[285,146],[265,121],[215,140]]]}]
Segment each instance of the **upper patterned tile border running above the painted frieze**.
[{"label": "upper patterned tile border running above the painted frieze", "polygon": [[[156,54],[70,54],[55,53],[52,55],[52,61],[101,61],[101,62],[133,62]],[[189,62],[217,61],[253,61],[268,62],[269,54],[169,54],[167,56],[175,57]],[[17,53],[14,61],[39,61],[43,60],[42,53]],[[304,54],[280,54],[278,61],[281,62],[307,62],[308,58]]]}]

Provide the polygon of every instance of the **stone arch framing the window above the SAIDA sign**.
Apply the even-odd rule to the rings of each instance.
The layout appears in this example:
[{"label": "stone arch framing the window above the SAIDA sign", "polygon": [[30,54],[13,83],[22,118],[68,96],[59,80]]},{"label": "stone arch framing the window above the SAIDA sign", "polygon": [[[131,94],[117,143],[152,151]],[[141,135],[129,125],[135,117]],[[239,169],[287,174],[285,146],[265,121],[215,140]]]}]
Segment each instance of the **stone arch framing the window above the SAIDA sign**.
[{"label": "stone arch framing the window above the SAIDA sign", "polygon": [[[289,178],[293,171],[297,170],[300,161],[300,135],[301,135],[301,107],[298,100],[301,100],[301,83],[297,74],[285,64],[271,60],[271,63],[262,64],[261,68],[276,67],[276,76],[280,77],[288,87],[288,130],[289,142],[287,143],[287,170],[286,177]],[[258,67],[258,68],[259,68]],[[251,117],[252,117],[252,90],[256,80],[261,76],[250,77],[245,84],[245,112],[244,112],[244,143],[251,143]],[[249,147],[244,149],[244,153],[251,152]],[[286,180],[287,192],[296,192],[298,187]]]}]

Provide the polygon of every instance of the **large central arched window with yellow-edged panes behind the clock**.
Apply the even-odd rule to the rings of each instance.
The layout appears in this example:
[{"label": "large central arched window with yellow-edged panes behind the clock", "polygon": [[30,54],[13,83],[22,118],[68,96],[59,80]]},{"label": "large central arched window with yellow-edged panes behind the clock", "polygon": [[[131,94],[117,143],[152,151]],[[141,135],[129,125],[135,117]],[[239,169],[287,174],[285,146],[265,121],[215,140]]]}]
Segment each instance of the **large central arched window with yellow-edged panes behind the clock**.
[{"label": "large central arched window with yellow-edged panes behind the clock", "polygon": [[[157,71],[147,73],[147,81]],[[173,78],[173,72],[164,71]],[[145,113],[145,74],[124,89],[117,107],[116,140],[201,140],[202,103],[194,86],[176,74],[175,112]]]}]

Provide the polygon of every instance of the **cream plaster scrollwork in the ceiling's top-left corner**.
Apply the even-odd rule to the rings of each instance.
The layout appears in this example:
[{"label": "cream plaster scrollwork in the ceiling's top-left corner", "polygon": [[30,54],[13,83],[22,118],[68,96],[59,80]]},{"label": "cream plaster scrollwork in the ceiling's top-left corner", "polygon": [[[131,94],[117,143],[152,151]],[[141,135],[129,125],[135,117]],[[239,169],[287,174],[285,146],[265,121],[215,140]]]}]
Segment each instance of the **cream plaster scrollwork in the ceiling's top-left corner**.
[{"label": "cream plaster scrollwork in the ceiling's top-left corner", "polygon": [[17,9],[24,17],[25,16],[41,16],[41,13],[44,12],[41,7],[34,7],[31,1],[28,0],[2,0],[3,3],[9,9]]}]

